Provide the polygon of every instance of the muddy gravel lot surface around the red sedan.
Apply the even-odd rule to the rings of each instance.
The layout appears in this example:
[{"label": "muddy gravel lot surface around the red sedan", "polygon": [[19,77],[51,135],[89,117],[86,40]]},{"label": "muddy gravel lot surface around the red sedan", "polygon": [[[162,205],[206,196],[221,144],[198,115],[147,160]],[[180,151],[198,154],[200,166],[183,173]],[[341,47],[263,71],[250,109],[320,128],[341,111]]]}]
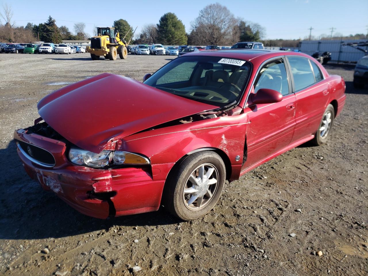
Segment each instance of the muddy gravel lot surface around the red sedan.
[{"label": "muddy gravel lot surface around the red sedan", "polygon": [[38,117],[38,100],[102,72],[142,80],[172,58],[0,54],[0,274],[367,275],[368,90],[353,88],[352,66],[326,65],[347,93],[328,144],[302,145],[227,183],[202,219],[162,209],[93,219],[26,175],[12,137]]}]

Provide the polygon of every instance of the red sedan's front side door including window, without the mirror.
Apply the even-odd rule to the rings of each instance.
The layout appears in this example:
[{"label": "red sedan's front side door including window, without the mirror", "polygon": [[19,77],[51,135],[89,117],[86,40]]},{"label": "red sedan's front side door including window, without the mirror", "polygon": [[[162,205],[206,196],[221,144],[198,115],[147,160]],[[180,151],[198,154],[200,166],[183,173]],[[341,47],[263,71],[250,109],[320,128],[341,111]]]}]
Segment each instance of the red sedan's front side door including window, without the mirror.
[{"label": "red sedan's front side door including window, without the mirror", "polygon": [[249,97],[245,109],[248,113],[247,160],[242,171],[251,170],[285,149],[296,125],[296,98],[283,58],[273,59],[261,68],[252,90],[257,93],[261,88],[276,90],[283,98],[277,103],[254,104]]}]

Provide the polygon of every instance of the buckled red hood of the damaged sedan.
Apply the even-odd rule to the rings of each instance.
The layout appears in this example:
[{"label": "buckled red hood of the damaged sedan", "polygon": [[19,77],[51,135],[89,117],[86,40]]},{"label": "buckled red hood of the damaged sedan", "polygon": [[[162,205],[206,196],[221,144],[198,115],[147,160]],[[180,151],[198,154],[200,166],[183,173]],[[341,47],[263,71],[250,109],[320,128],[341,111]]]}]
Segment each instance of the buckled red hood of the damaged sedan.
[{"label": "buckled red hood of the damaged sedan", "polygon": [[37,107],[60,135],[96,153],[119,138],[217,108],[107,73],[56,90]]}]

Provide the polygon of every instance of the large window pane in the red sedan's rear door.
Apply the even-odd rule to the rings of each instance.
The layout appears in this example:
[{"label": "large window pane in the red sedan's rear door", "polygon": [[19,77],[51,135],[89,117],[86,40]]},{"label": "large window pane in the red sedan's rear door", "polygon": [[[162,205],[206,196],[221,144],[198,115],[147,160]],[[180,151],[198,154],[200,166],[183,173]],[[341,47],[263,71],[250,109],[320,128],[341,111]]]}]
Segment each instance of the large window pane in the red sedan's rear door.
[{"label": "large window pane in the red sedan's rear door", "polygon": [[312,67],[306,57],[288,57],[287,60],[289,60],[291,74],[293,74],[295,91],[314,84]]}]

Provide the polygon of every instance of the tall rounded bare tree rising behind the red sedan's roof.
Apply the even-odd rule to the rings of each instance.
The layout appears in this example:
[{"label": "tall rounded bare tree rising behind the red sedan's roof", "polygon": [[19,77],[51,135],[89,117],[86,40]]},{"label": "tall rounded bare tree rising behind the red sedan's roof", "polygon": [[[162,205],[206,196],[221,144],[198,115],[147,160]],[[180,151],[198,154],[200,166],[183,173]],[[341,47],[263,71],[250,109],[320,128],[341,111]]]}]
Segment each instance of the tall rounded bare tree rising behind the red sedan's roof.
[{"label": "tall rounded bare tree rising behind the red sedan's roof", "polygon": [[233,41],[233,29],[237,19],[227,7],[219,3],[210,4],[199,11],[192,23],[192,30],[199,44],[229,44]]}]

